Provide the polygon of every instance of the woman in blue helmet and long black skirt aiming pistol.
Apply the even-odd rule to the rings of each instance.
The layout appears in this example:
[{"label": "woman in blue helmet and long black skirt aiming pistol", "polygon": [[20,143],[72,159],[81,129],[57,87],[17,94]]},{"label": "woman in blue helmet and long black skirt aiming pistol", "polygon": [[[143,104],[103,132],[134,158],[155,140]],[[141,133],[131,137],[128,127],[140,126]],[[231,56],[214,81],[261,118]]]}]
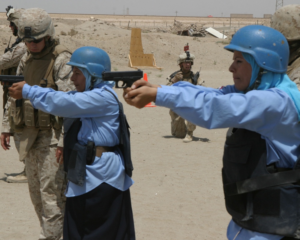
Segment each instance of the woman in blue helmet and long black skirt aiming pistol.
[{"label": "woman in blue helmet and long black skirt aiming pistol", "polygon": [[70,181],[63,238],[133,240],[133,181],[125,173],[118,147],[119,104],[114,82],[102,80],[102,72],[110,71],[110,58],[102,49],[85,46],[67,65],[72,66],[77,91],[31,87],[26,82],[10,88],[14,98],[30,99],[35,108],[65,117],[64,168]]}]

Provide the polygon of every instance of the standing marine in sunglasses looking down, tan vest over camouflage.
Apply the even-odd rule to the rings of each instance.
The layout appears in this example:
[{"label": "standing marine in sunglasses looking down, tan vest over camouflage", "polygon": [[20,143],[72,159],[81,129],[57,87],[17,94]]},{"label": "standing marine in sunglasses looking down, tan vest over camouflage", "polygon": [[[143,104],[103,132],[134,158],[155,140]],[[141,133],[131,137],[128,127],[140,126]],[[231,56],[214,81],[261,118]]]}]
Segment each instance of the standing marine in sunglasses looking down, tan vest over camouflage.
[{"label": "standing marine in sunglasses looking down, tan vest over camouflage", "polygon": [[[54,26],[45,10],[25,10],[19,20],[18,35],[26,42],[28,52],[22,57],[17,74],[22,73],[29,85],[58,91],[74,89],[71,67],[66,65],[71,52],[54,38]],[[9,136],[13,128],[22,128],[20,160],[25,160],[29,194],[41,224],[39,239],[62,239],[66,200],[65,172],[59,164],[63,119],[34,109],[26,99],[8,101],[10,128],[4,129],[4,123],[1,137]]]}]

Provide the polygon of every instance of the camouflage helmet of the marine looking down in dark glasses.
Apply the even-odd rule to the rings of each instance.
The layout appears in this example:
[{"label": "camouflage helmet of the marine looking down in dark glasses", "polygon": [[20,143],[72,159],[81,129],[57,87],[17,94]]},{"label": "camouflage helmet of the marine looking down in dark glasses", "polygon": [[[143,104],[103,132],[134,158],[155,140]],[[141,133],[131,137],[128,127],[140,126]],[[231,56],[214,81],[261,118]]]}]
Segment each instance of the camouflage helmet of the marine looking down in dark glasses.
[{"label": "camouflage helmet of the marine looking down in dark glasses", "polygon": [[26,9],[19,20],[18,35],[22,40],[53,37],[55,29],[49,14],[41,8]]}]

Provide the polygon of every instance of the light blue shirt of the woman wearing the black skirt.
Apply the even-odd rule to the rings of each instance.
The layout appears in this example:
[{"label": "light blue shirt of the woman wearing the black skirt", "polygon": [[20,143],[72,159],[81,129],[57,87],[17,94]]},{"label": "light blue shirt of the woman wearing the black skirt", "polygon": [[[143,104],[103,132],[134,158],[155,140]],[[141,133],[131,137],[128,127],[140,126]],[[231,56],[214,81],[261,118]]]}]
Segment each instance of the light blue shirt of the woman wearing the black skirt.
[{"label": "light blue shirt of the woman wearing the black skirt", "polygon": [[[96,146],[116,146],[120,139],[119,105],[114,96],[105,91],[108,85],[99,83],[91,91],[62,92],[51,88],[29,86],[25,84],[22,95],[30,99],[33,107],[55,116],[80,118],[82,127],[78,133],[78,142],[86,145],[88,141]],[[68,182],[66,196],[78,196],[93,190],[106,182],[125,191],[132,179],[125,174],[124,159],[120,150],[104,152],[96,157],[92,165],[86,166],[86,178],[82,187]]]}]

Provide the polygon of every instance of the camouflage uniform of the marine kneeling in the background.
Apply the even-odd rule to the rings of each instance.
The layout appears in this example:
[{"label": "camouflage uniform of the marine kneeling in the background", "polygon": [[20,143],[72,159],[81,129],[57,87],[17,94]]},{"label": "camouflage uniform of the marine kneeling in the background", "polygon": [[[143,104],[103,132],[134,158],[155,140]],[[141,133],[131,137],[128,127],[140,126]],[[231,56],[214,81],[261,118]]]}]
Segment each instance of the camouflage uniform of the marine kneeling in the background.
[{"label": "camouflage uniform of the marine kneeling in the background", "polygon": [[[181,70],[178,70],[176,73],[180,72]],[[174,74],[174,73],[173,73]],[[173,75],[172,74],[172,75]],[[188,73],[182,73],[183,78],[181,81],[186,81],[193,83],[192,78],[194,76],[193,72],[190,71]],[[199,77],[197,79],[196,85],[203,85],[204,81]],[[166,85],[173,85],[173,82],[171,82],[170,76],[167,77],[167,84]],[[172,110],[169,111],[169,114],[171,116],[171,134],[175,137],[184,138],[187,135],[187,132],[193,132],[196,129],[196,125],[192,124],[191,122],[188,122],[184,120],[182,117],[174,113]]]}]

